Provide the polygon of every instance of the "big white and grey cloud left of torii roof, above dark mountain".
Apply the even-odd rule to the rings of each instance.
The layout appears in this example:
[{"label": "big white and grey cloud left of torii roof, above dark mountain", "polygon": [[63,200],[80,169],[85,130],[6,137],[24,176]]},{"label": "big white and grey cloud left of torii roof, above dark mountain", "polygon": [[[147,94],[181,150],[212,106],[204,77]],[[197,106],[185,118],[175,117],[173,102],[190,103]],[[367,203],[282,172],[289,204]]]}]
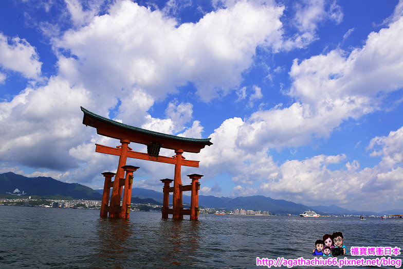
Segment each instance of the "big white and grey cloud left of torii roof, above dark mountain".
[{"label": "big white and grey cloud left of torii roof, above dark mountain", "polygon": [[51,78],[48,85],[27,88],[10,102],[0,103],[0,159],[35,168],[77,167],[68,150],[85,139],[80,104],[89,93]]}]

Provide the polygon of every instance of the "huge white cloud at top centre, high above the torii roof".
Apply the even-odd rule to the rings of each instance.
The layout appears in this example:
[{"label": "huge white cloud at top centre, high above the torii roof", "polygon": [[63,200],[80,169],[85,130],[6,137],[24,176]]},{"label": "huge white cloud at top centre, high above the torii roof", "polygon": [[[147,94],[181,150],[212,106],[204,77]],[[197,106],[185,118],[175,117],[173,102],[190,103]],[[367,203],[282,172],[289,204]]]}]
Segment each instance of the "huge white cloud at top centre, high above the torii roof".
[{"label": "huge white cloud at top centre, high above the torii roof", "polygon": [[72,83],[100,92],[137,85],[162,99],[190,81],[208,101],[239,85],[257,46],[280,38],[282,12],[240,1],[197,23],[177,25],[158,10],[118,1],[108,14],[67,31],[54,44],[78,58],[60,62],[61,75]]}]

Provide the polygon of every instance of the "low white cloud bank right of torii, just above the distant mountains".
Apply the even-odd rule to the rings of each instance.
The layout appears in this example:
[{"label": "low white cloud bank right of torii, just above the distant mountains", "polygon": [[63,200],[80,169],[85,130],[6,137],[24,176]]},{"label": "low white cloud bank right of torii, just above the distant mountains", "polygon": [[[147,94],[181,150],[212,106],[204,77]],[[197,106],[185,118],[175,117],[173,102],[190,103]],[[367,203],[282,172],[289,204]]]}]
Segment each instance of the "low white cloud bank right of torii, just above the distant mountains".
[{"label": "low white cloud bank right of torii, just above the distant mountains", "polygon": [[[236,119],[230,122],[234,125]],[[206,148],[199,153],[203,159],[200,169],[202,173],[208,171],[209,176],[219,173],[218,167],[228,171],[236,184],[231,193],[233,196],[263,194],[307,205],[336,203],[349,209],[368,210],[370,207],[375,211],[381,211],[384,197],[390,197],[389,207],[401,207],[403,199],[399,190],[403,187],[403,167],[400,145],[403,142],[403,127],[388,136],[373,138],[368,148],[377,148],[371,155],[381,156],[382,161],[372,168],[360,169],[357,160],[346,162],[344,154],[317,155],[276,164],[266,150],[250,154],[240,148],[232,148],[234,136],[225,132],[229,129],[226,126],[228,123],[223,123],[211,135],[214,149]],[[237,128],[240,124],[241,120]],[[223,138],[226,138],[225,142],[221,140]],[[229,154],[223,157],[221,151],[226,150]],[[334,169],[332,165],[339,168]],[[210,190],[206,188],[205,191],[208,193]]]}]

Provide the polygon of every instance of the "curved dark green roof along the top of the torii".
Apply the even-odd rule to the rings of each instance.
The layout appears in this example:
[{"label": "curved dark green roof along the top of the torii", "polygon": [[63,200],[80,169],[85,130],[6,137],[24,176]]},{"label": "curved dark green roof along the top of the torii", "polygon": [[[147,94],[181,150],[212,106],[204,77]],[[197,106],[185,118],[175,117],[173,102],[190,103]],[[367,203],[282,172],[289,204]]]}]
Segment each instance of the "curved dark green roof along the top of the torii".
[{"label": "curved dark green roof along the top of the torii", "polygon": [[213,145],[213,143],[210,142],[211,138],[201,138],[201,139],[199,139],[199,138],[188,138],[188,137],[180,137],[180,136],[175,136],[175,135],[169,135],[169,134],[154,132],[154,131],[141,129],[141,128],[138,128],[138,127],[134,127],[134,126],[131,126],[131,125],[127,125],[127,124],[124,124],[124,123],[117,122],[117,121],[112,120],[112,119],[102,117],[100,115],[97,115],[97,114],[95,114],[93,112],[90,112],[90,111],[84,109],[84,107],[82,107],[82,106],[81,106],[81,111],[84,113],[83,124],[85,124],[85,125],[87,125],[85,123],[85,117],[88,115],[88,116],[93,117],[93,118],[95,118],[97,120],[103,121],[105,123],[114,125],[114,126],[119,127],[119,128],[123,128],[123,129],[128,130],[128,131],[133,131],[133,132],[136,132],[136,133],[141,133],[141,134],[145,134],[145,135],[149,135],[149,136],[153,136],[153,137],[158,137],[158,138],[162,138],[162,139],[183,141],[183,142],[188,142],[188,143],[192,143],[192,144],[203,144],[203,145],[207,145],[207,146]]}]

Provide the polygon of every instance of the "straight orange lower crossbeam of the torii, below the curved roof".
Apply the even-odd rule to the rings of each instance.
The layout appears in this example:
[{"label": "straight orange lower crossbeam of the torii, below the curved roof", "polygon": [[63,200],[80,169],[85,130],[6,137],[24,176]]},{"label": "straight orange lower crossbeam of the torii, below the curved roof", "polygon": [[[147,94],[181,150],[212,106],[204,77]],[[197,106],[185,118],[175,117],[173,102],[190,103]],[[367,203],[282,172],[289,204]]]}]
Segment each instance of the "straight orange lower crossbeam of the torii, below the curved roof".
[{"label": "straight orange lower crossbeam of the torii, below the curved roof", "polygon": [[[95,144],[95,145],[97,146],[95,149],[96,152],[120,156],[121,149],[107,147],[107,146],[103,146],[103,145],[99,145],[99,144]],[[131,151],[131,150],[127,151],[127,157],[141,159],[141,160],[152,160],[153,162],[158,162],[158,163],[166,163],[166,164],[173,164],[173,165],[176,164],[176,158],[166,157],[166,156],[150,156],[147,153]],[[190,167],[199,167],[199,161],[182,159],[181,165],[190,166]]]}]

